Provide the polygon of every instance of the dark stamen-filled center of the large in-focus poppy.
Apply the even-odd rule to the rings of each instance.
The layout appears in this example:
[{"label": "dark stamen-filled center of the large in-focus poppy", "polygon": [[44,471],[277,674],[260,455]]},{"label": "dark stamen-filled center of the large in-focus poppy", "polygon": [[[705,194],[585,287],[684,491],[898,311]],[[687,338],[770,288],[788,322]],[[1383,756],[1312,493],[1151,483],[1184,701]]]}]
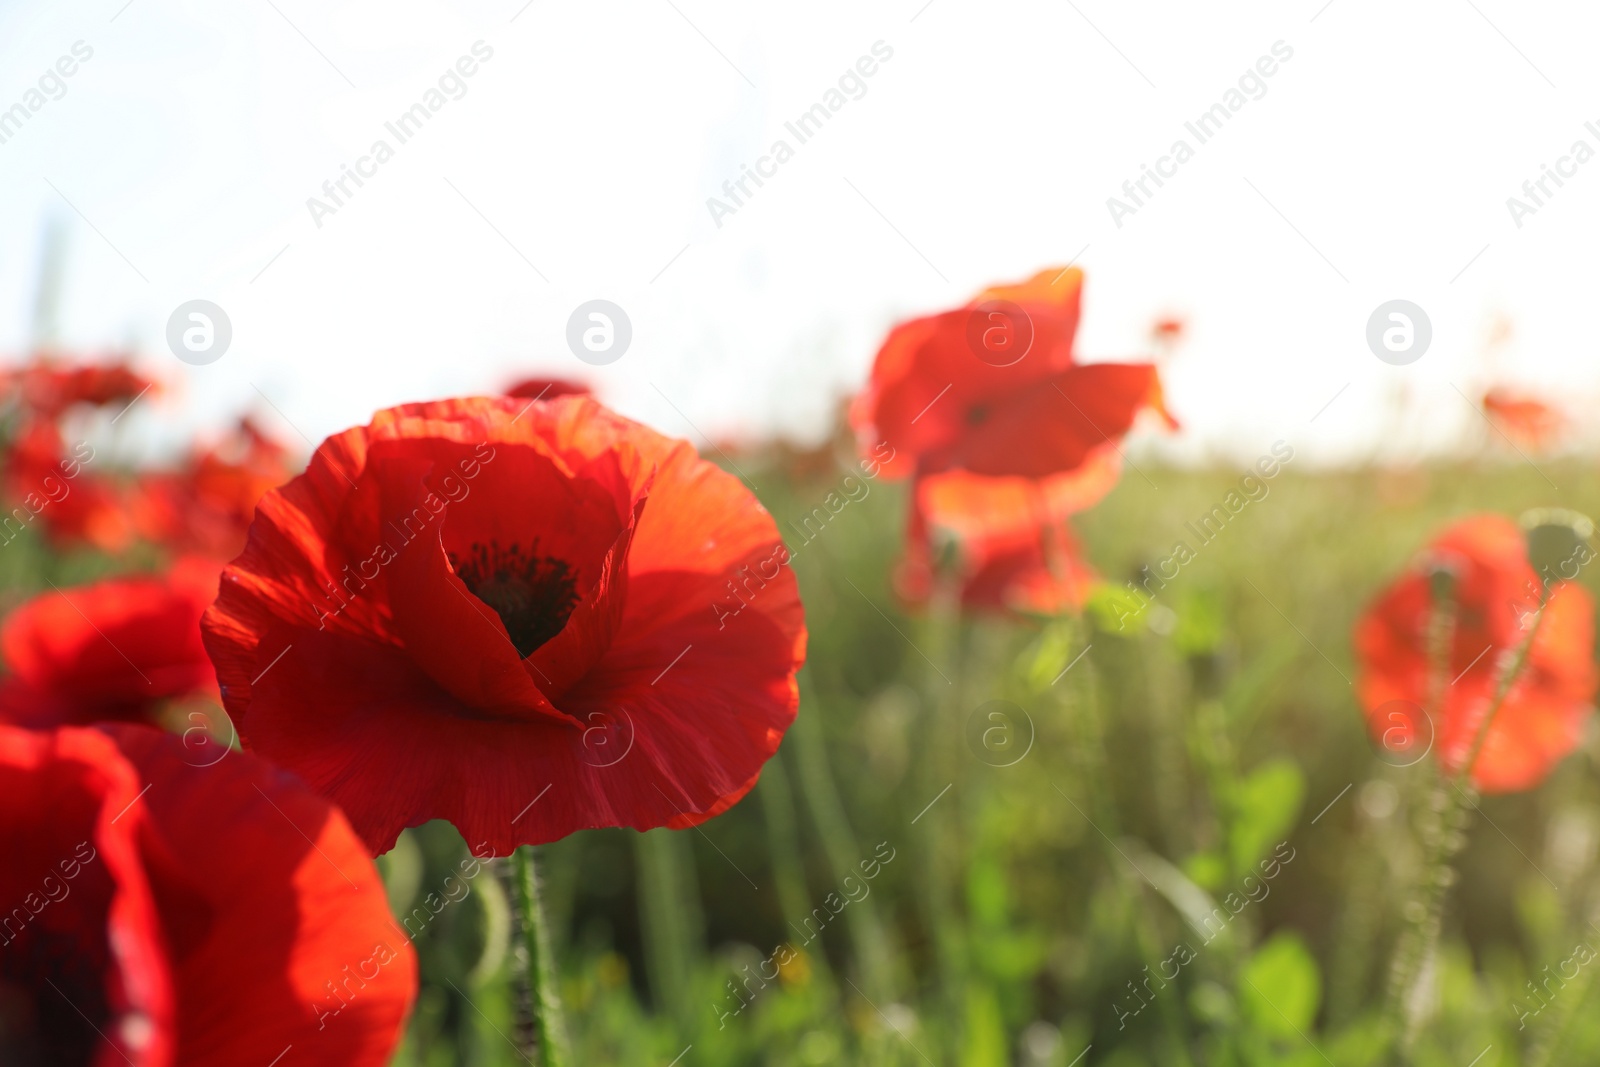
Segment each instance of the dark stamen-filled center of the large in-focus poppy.
[{"label": "dark stamen-filled center of the large in-focus poppy", "polygon": [[466,560],[450,553],[450,566],[474,597],[494,608],[520,656],[560,633],[578,606],[578,573],[566,560],[539,555],[538,539],[526,550],[474,541]]}]

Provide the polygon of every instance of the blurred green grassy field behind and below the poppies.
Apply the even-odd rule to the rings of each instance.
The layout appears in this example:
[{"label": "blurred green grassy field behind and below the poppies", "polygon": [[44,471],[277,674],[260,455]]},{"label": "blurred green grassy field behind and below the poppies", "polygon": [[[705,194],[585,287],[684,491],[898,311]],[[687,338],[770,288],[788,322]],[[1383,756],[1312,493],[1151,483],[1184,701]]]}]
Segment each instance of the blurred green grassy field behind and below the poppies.
[{"label": "blurred green grassy field behind and below the poppies", "polygon": [[[899,605],[904,483],[795,533],[846,450],[739,467],[795,549],[800,717],[704,827],[539,849],[574,1062],[1374,1062],[1435,773],[1374,755],[1352,622],[1454,517],[1600,514],[1595,470],[1290,462],[1208,534],[1248,467],[1139,462],[1078,517],[1106,592],[1008,621]],[[0,566],[19,600],[104,561]],[[1595,753],[1461,827],[1411,1062],[1600,1057]],[[422,963],[397,1062],[523,1062],[509,872],[445,824],[379,865]]]}]

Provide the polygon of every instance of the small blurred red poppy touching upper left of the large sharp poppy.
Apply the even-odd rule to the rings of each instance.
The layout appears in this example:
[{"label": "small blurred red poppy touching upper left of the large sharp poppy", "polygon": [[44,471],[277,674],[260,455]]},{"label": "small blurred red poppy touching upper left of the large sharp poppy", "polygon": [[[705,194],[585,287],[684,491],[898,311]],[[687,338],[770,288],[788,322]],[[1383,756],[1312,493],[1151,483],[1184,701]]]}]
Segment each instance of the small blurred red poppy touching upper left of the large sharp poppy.
[{"label": "small blurred red poppy touching upper left of the large sharp poppy", "polygon": [[256,504],[294,475],[290,451],[250,419],[179,470],[147,474],[133,501],[139,533],[174,552],[229,560],[245,547]]}]

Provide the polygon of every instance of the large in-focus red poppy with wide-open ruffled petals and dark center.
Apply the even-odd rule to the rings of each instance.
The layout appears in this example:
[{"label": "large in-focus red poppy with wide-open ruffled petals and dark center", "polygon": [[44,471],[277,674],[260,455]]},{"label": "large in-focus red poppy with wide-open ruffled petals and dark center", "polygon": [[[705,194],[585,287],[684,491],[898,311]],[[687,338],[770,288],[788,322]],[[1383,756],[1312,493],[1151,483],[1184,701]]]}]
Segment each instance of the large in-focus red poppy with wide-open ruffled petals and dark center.
[{"label": "large in-focus red poppy with wide-open ruffled petals and dark center", "polygon": [[586,397],[445,400],[269,493],[203,630],[246,747],[374,853],[442,817],[506,854],[755,784],[798,704],[786,558],[686,442]]}]

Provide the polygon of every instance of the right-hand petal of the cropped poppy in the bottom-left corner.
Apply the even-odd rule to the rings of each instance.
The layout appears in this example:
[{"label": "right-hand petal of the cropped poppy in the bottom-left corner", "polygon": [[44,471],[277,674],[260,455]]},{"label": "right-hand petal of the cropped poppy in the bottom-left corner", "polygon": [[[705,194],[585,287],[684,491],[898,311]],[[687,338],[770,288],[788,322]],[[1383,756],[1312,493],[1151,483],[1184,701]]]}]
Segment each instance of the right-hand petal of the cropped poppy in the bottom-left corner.
[{"label": "right-hand petal of the cropped poppy in the bottom-left corner", "polygon": [[224,1067],[301,1045],[386,1064],[416,957],[344,816],[248,753],[195,766],[168,734],[106,731],[150,782],[141,848],[171,945],[178,1061]]}]

